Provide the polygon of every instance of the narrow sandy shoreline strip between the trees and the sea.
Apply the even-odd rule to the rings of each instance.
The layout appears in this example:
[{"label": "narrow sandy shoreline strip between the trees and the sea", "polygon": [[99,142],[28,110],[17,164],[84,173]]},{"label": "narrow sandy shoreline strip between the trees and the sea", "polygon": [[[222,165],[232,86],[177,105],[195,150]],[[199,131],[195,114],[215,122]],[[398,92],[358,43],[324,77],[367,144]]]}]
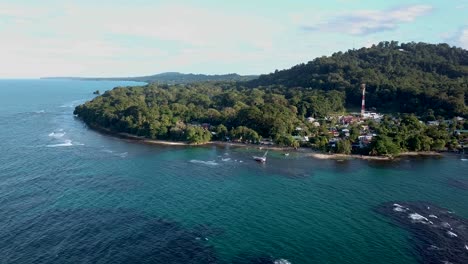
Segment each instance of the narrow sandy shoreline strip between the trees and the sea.
[{"label": "narrow sandy shoreline strip between the trees and the sea", "polygon": [[260,150],[275,150],[275,151],[294,151],[304,153],[306,156],[320,159],[320,160],[349,160],[349,159],[361,159],[361,160],[373,160],[373,161],[392,161],[402,157],[442,157],[443,154],[434,151],[428,152],[402,152],[394,157],[390,156],[368,156],[368,155],[359,155],[359,154],[339,154],[339,153],[322,153],[317,152],[312,149],[299,148],[294,149],[292,147],[278,147],[278,146],[266,146],[266,145],[255,145],[255,144],[246,144],[238,142],[225,142],[225,141],[209,141],[202,144],[191,144],[187,142],[179,141],[170,141],[170,140],[158,140],[158,139],[148,139],[141,136],[135,136],[128,133],[117,133],[113,132],[107,128],[103,128],[96,125],[86,124],[91,129],[98,132],[104,133],[109,136],[130,140],[133,142],[139,142],[143,144],[151,145],[163,145],[163,146],[230,146],[230,147],[239,147],[239,148],[256,148]]}]

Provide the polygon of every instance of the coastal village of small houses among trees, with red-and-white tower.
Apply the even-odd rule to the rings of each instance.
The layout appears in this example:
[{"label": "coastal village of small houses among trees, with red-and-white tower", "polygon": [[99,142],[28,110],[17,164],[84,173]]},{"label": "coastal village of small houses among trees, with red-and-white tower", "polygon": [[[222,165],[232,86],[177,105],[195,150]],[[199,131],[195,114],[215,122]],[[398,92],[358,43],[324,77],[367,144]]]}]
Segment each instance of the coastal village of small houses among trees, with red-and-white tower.
[{"label": "coastal village of small houses among trees, with red-and-white tower", "polygon": [[[361,112],[351,112],[346,115],[329,115],[324,118],[307,117],[306,122],[302,126],[295,128],[292,136],[295,142],[290,146],[296,149],[299,146],[312,147],[326,153],[369,154],[366,151],[368,151],[373,140],[379,136],[378,131],[374,129],[375,124],[380,124],[385,120],[398,126],[402,119],[391,114],[378,113],[375,111],[375,108],[372,109],[373,111],[366,111],[365,84],[361,85],[361,91]],[[465,148],[468,147],[468,123],[466,123],[463,117],[454,117],[453,119],[443,119],[441,117],[437,119],[435,116],[416,118],[420,124],[431,127],[442,127],[455,139],[455,141],[452,140],[449,147],[444,144],[437,151],[465,152]],[[216,136],[216,132],[213,131],[215,127],[210,126],[209,123],[195,125],[210,130],[212,135]],[[319,138],[325,139],[325,142],[317,140]],[[282,144],[275,143],[271,138],[262,138],[259,142],[252,142],[251,140],[243,140],[242,138],[231,140],[230,137],[226,136],[225,140],[236,143],[255,143],[269,147],[284,147]],[[351,141],[351,146],[347,150],[340,150],[340,145],[344,141]]]}]

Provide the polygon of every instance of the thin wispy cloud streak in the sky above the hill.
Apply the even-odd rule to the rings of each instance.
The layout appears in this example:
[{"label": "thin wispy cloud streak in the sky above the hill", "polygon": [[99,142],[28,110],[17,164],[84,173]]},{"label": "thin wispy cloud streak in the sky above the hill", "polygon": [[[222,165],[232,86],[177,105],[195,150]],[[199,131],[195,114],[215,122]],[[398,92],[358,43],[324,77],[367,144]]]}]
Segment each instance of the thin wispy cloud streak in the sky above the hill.
[{"label": "thin wispy cloud streak in the sky above the hill", "polygon": [[433,10],[429,5],[412,5],[388,10],[358,10],[346,12],[302,28],[306,31],[340,32],[350,35],[369,35],[397,29]]}]

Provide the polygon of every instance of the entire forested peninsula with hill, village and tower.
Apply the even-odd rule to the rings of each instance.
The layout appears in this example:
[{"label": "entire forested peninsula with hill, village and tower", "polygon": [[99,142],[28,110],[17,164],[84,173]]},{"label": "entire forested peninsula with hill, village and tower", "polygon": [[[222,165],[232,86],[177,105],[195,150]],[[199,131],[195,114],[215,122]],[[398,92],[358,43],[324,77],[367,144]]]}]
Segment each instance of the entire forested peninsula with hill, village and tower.
[{"label": "entire forested peninsula with hill, village and tower", "polygon": [[392,157],[463,148],[467,97],[468,51],[392,41],[247,81],[117,87],[74,113],[149,140]]}]

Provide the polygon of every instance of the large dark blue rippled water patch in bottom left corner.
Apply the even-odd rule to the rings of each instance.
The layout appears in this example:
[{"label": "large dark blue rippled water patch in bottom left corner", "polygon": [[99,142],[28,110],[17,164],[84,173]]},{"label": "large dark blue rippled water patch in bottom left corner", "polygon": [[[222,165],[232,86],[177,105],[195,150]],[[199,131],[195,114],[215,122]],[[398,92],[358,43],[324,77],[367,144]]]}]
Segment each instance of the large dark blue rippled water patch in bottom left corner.
[{"label": "large dark blue rippled water patch in bottom left corner", "polygon": [[200,230],[134,211],[49,211],[1,222],[2,263],[219,263]]}]

